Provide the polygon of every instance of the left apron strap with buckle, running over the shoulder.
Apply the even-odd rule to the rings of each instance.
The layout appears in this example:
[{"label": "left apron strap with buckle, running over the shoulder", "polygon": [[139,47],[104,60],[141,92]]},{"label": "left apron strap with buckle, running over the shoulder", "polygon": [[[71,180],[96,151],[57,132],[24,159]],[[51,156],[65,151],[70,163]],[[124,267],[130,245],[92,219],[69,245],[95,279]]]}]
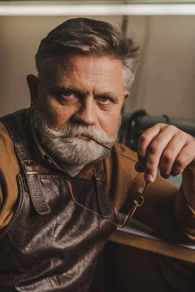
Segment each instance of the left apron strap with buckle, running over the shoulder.
[{"label": "left apron strap with buckle, running over the shoulder", "polygon": [[0,120],[7,128],[9,135],[13,140],[15,152],[20,161],[23,175],[28,186],[29,195],[35,210],[39,215],[50,213],[51,209],[45,201],[42,193],[37,164],[32,160],[27,139],[14,114],[8,114],[0,118]]}]

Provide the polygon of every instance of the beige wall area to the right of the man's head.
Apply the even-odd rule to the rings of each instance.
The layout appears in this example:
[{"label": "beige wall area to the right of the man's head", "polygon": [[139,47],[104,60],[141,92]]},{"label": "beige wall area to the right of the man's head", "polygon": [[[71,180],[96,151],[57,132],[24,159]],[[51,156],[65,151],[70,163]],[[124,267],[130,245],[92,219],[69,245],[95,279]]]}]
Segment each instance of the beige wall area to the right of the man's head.
[{"label": "beige wall area to the right of the man's head", "polygon": [[142,43],[132,99],[126,110],[195,118],[195,16],[129,19]]}]

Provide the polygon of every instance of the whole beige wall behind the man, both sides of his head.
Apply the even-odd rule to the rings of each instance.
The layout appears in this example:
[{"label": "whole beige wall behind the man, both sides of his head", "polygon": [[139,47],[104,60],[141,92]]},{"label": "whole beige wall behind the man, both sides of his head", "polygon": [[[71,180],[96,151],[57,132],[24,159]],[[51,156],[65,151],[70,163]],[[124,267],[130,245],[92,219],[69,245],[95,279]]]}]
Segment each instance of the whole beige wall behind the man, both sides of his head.
[{"label": "whole beige wall behind the man, both sides of his head", "polygon": [[[95,18],[95,17],[93,17]],[[29,106],[25,81],[36,73],[40,40],[66,17],[0,17],[0,115]],[[122,17],[96,17],[121,24]],[[142,46],[142,61],[125,111],[195,118],[195,16],[135,16],[128,34]]]}]

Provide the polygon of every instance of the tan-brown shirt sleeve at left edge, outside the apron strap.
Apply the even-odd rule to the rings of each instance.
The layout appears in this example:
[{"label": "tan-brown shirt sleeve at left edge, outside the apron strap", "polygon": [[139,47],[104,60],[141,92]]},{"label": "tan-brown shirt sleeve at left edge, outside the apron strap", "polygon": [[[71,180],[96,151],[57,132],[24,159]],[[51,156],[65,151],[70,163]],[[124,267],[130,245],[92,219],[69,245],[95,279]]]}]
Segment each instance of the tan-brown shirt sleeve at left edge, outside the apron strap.
[{"label": "tan-brown shirt sleeve at left edge, outside the apron strap", "polygon": [[13,141],[0,122],[0,229],[9,223],[17,208],[19,191],[16,176],[19,173]]}]

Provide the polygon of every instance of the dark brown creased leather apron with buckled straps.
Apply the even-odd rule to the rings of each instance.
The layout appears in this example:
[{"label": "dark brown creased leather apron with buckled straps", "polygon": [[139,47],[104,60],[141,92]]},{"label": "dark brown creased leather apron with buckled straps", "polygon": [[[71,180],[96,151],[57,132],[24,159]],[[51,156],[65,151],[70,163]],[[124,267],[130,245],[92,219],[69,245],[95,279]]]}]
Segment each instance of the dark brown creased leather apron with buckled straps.
[{"label": "dark brown creased leather apron with buckled straps", "polygon": [[98,257],[117,222],[106,194],[105,175],[95,165],[94,180],[39,175],[14,115],[2,118],[13,139],[22,172],[17,175],[17,210],[0,233],[0,292],[87,292]]}]

